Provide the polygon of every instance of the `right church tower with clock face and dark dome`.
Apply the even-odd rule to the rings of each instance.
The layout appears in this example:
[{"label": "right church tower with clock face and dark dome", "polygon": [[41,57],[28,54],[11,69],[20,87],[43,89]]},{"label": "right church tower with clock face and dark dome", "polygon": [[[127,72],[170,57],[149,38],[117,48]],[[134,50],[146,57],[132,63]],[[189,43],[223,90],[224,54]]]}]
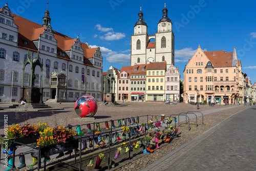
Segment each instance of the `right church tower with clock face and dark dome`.
[{"label": "right church tower with clock face and dark dome", "polygon": [[163,17],[158,22],[156,33],[156,61],[166,60],[167,68],[174,66],[174,33],[173,24],[168,18],[168,10],[163,9]]}]

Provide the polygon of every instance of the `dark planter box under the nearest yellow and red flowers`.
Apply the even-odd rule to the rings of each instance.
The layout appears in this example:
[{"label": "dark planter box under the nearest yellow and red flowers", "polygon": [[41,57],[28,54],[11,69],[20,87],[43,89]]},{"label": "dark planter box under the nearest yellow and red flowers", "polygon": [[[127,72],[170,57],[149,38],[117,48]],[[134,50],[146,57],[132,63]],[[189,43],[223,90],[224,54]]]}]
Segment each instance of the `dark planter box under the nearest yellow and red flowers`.
[{"label": "dark planter box under the nearest yellow and red flowers", "polygon": [[[67,140],[66,143],[61,142],[61,143],[44,145],[40,147],[40,150],[41,150],[40,156],[41,158],[48,157],[48,156],[63,153],[75,148],[78,148],[78,139]],[[38,149],[33,149],[33,156],[38,157]]]}]

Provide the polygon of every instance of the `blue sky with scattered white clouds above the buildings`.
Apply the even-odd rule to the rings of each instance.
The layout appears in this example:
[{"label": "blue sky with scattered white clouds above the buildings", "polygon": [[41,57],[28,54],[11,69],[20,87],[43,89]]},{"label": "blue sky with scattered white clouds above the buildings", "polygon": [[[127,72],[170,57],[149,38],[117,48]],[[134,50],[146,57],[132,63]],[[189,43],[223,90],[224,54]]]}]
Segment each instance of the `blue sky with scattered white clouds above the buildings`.
[{"label": "blue sky with scattered white clouds above the buildings", "polygon": [[[2,6],[5,5],[2,2]],[[142,7],[148,33],[157,30],[166,3],[175,35],[175,66],[181,79],[189,58],[200,44],[207,51],[232,52],[237,48],[242,72],[256,82],[256,17],[254,1],[58,1],[49,0],[51,26],[55,31],[92,46],[100,46],[103,72],[111,64],[130,66],[131,34]],[[47,1],[8,1],[11,12],[41,24]]]}]

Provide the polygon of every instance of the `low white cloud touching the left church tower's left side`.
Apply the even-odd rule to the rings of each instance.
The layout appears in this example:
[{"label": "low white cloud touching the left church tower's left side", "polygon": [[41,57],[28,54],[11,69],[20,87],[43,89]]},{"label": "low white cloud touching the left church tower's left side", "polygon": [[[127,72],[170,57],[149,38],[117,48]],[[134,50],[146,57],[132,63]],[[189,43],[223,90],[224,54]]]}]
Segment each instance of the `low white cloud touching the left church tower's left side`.
[{"label": "low white cloud touching the left church tower's left side", "polygon": [[[90,45],[90,48],[97,48],[96,45]],[[116,51],[112,51],[111,49],[100,47],[100,51],[103,57],[106,57],[106,60],[109,62],[115,62],[115,63],[122,63],[122,64],[130,64],[131,61],[131,55],[130,54],[124,54],[125,52],[128,52],[127,50],[122,51],[121,53],[118,53]],[[130,52],[130,50],[129,50]]]}]

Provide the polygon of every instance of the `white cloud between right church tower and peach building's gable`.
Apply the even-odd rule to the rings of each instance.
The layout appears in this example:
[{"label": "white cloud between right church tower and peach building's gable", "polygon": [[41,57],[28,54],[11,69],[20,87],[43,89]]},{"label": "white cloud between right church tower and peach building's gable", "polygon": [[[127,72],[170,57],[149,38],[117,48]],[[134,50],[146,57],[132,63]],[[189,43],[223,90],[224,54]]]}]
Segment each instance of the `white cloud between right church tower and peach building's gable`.
[{"label": "white cloud between right church tower and peach building's gable", "polygon": [[195,52],[196,50],[193,50],[192,48],[175,50],[175,62],[188,62],[188,59],[190,59]]}]

